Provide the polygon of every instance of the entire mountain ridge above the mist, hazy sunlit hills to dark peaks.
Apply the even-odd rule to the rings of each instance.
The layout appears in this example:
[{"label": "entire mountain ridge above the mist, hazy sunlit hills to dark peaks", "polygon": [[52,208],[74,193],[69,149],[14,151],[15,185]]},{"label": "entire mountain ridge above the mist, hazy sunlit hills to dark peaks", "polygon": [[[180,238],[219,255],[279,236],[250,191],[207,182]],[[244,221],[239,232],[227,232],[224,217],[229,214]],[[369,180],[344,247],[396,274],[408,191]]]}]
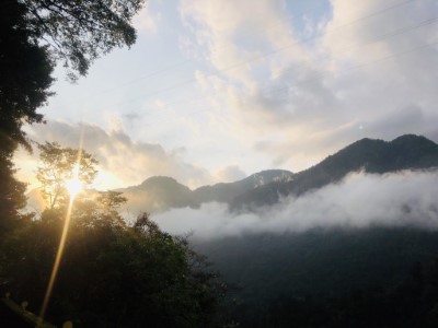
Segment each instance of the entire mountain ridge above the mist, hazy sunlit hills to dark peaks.
[{"label": "entire mountain ridge above the mist, hazy sunlit hills to dark peaks", "polygon": [[[391,142],[361,139],[330,155],[321,163],[292,174],[284,169],[255,173],[242,180],[203,186],[195,190],[174,178],[154,176],[138,186],[117,189],[128,198],[126,210],[160,212],[172,208],[198,208],[204,202],[223,202],[231,210],[274,204],[281,197],[300,196],[312,189],[339,181],[347,174],[365,171],[382,174],[400,169],[438,166],[438,144],[415,134],[401,136]],[[35,194],[35,195],[34,195]],[[37,192],[28,195],[31,209],[41,210]]]}]

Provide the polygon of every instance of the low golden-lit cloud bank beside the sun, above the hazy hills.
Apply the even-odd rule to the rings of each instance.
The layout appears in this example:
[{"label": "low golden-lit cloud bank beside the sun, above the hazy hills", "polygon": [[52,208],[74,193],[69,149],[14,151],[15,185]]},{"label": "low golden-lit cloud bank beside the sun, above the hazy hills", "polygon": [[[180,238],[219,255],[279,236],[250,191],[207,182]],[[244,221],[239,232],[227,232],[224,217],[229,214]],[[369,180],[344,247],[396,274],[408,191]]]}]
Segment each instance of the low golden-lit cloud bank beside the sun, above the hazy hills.
[{"label": "low golden-lit cloud bank beside the sun, above the hazy hills", "polygon": [[[184,161],[183,148],[165,150],[158,143],[132,140],[124,130],[108,131],[93,125],[70,125],[49,121],[47,125],[28,127],[28,137],[37,142],[58,142],[64,147],[78,148],[83,139],[83,148],[100,162],[102,173],[96,179],[96,188],[116,188],[138,185],[148,177],[164,175],[180,183],[197,187],[212,181],[208,172]],[[82,137],[81,137],[82,133]],[[37,154],[31,156],[21,151],[15,156],[21,168],[19,177],[31,180],[37,165]]]}]

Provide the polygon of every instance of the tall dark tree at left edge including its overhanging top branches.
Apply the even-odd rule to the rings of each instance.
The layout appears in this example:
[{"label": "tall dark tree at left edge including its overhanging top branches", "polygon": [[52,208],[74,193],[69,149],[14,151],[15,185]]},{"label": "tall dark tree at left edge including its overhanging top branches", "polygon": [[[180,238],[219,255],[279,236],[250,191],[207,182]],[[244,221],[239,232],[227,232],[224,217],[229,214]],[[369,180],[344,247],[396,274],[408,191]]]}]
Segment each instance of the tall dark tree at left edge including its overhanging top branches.
[{"label": "tall dark tree at left edge including its overhanging top branches", "polygon": [[[114,47],[130,46],[130,24],[145,0],[2,0],[0,11],[0,220],[19,219],[23,190],[14,177],[12,155],[31,147],[22,127],[43,122],[37,108],[50,92],[58,61],[72,79],[85,75],[91,62]],[[21,191],[20,191],[21,192]],[[4,195],[3,195],[4,194]],[[22,197],[18,197],[18,199]],[[1,225],[1,224],[0,224]],[[1,232],[0,232],[1,233]]]}]

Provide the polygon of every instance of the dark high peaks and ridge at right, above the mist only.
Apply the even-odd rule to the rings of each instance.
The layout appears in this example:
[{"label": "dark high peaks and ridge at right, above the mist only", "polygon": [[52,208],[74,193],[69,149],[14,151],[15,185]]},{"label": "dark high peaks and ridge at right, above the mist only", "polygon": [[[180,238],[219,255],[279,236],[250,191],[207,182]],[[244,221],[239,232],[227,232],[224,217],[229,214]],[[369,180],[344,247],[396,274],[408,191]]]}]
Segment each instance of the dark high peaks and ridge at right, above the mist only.
[{"label": "dark high peaks and ridge at right, above the mist only", "polygon": [[274,204],[281,197],[300,196],[339,181],[347,174],[360,169],[383,174],[436,166],[438,166],[438,144],[425,137],[405,134],[391,142],[361,139],[330,155],[318,165],[295,174],[292,179],[273,181],[238,196],[231,202],[231,209]]}]

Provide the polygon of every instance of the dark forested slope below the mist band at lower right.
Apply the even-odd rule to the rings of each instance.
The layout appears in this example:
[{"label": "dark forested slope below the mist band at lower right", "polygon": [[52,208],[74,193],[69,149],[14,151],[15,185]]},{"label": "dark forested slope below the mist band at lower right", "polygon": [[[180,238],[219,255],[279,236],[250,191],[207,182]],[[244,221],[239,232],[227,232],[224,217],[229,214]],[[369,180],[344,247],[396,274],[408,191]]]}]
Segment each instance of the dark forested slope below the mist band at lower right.
[{"label": "dark forested slope below the mist band at lower right", "polygon": [[[237,286],[226,309],[241,327],[436,327],[426,319],[438,301],[438,266],[427,265],[437,237],[413,227],[316,229],[195,246]],[[413,285],[413,273],[427,285]]]}]

